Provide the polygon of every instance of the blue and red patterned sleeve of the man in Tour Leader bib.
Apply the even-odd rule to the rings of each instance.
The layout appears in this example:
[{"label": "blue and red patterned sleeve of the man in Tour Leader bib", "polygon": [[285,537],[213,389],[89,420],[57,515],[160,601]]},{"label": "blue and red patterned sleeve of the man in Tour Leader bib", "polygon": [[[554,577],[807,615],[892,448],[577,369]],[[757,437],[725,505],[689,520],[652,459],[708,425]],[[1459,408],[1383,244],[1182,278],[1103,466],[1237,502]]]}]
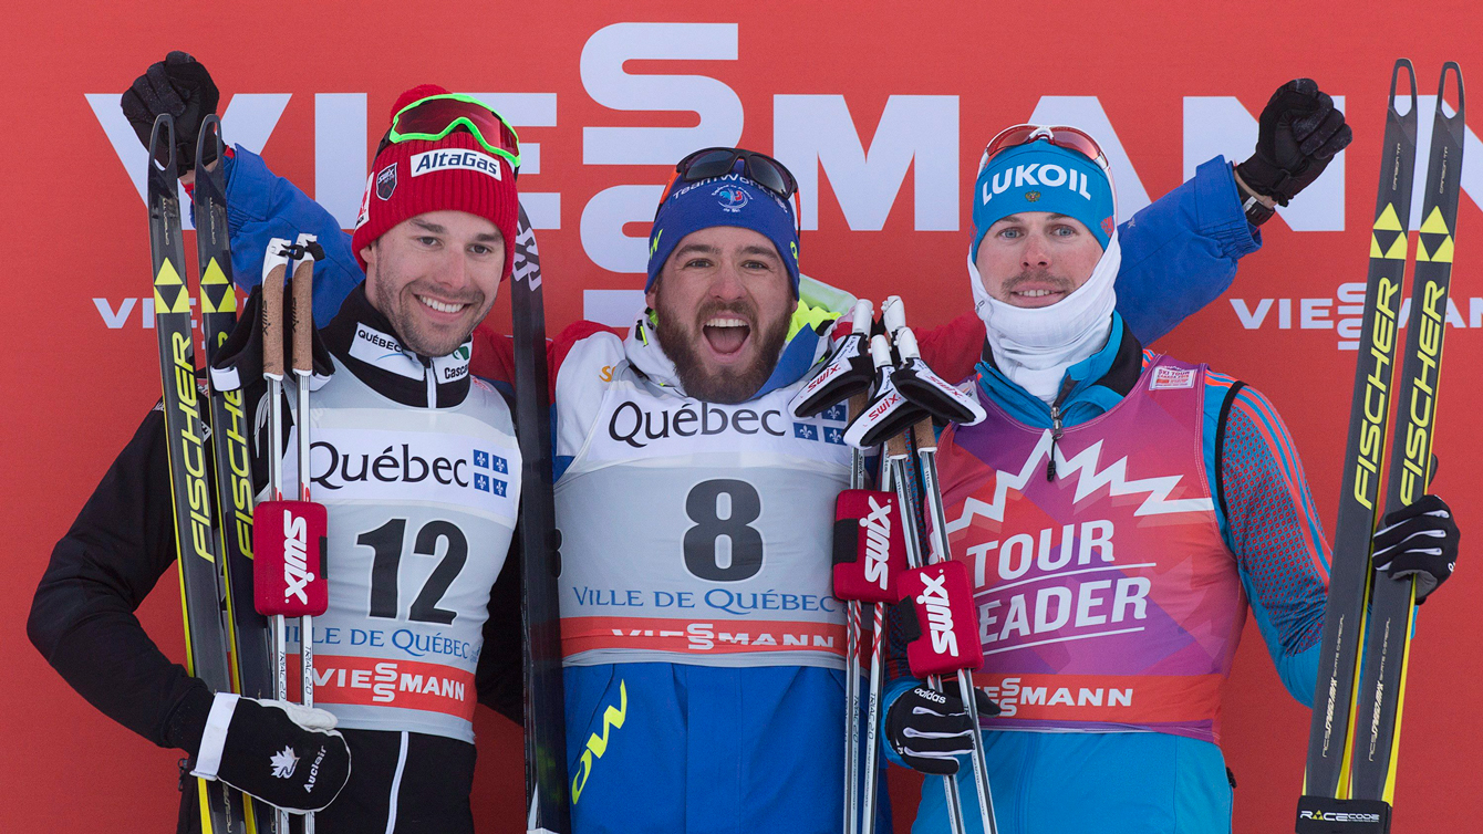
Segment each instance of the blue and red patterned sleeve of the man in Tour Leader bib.
[{"label": "blue and red patterned sleeve of the man in Tour Leader bib", "polygon": [[1206,462],[1207,471],[1219,471],[1221,530],[1277,675],[1312,707],[1330,553],[1302,462],[1261,393],[1210,373],[1206,397]]}]

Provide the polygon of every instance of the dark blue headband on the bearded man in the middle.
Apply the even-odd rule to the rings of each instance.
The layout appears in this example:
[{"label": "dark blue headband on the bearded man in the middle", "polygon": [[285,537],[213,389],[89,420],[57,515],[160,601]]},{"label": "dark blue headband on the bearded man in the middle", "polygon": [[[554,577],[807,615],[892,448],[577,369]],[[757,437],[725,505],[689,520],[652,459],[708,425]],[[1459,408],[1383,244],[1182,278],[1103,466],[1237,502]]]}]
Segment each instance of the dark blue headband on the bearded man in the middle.
[{"label": "dark blue headband on the bearded man in the middle", "polygon": [[[737,166],[742,164],[739,160]],[[700,182],[675,182],[675,188],[654,213],[644,292],[654,287],[670,252],[687,234],[718,225],[749,228],[773,241],[793,281],[793,296],[798,296],[798,227],[793,206],[740,173]]]}]

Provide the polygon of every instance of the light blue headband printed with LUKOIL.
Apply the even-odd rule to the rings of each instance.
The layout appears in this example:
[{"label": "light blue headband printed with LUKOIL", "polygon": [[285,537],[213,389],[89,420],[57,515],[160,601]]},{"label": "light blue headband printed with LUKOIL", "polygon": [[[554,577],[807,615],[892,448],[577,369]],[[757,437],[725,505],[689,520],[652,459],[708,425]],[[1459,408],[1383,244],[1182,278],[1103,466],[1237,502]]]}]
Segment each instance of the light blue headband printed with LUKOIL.
[{"label": "light blue headband printed with LUKOIL", "polygon": [[1050,142],[1017,145],[991,159],[979,172],[968,256],[977,261],[979,243],[989,227],[1020,212],[1075,218],[1106,249],[1117,225],[1115,209],[1112,182],[1097,163]]}]

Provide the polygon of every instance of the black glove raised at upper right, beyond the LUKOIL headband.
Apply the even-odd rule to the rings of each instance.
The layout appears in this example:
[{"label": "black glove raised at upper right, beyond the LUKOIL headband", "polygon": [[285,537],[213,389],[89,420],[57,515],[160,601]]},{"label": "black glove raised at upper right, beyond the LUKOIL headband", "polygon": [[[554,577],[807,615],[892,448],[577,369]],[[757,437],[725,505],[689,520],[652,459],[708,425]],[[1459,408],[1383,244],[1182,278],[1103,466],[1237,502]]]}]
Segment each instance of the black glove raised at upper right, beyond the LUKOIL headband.
[{"label": "black glove raised at upper right, beyond the LUKOIL headband", "polygon": [[1344,114],[1312,79],[1277,87],[1259,124],[1256,153],[1235,166],[1235,172],[1247,188],[1280,206],[1318,179],[1333,154],[1354,139]]}]

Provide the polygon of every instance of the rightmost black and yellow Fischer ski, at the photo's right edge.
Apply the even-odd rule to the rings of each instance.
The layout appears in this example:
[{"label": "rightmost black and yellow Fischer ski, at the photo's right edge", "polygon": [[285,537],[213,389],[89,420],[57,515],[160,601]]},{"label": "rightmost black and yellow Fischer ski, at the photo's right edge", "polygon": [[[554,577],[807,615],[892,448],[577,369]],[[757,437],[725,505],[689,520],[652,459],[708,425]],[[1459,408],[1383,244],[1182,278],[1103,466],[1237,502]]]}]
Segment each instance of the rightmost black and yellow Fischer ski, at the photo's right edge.
[{"label": "rightmost black and yellow Fischer ski, at the photo's right edge", "polygon": [[[1443,111],[1447,73],[1456,76],[1458,111]],[[1385,511],[1407,507],[1431,481],[1431,443],[1436,437],[1437,387],[1441,378],[1441,342],[1447,333],[1447,289],[1452,283],[1452,247],[1458,228],[1462,175],[1462,70],[1452,61],[1441,67],[1437,114],[1431,129],[1431,161],[1422,199],[1416,241],[1406,356],[1401,364],[1398,416],[1391,441]],[[1406,698],[1406,661],[1416,616],[1415,579],[1376,576],[1370,591],[1364,668],[1360,674],[1360,720],[1354,741],[1351,795],[1393,804],[1400,717]]]}]

